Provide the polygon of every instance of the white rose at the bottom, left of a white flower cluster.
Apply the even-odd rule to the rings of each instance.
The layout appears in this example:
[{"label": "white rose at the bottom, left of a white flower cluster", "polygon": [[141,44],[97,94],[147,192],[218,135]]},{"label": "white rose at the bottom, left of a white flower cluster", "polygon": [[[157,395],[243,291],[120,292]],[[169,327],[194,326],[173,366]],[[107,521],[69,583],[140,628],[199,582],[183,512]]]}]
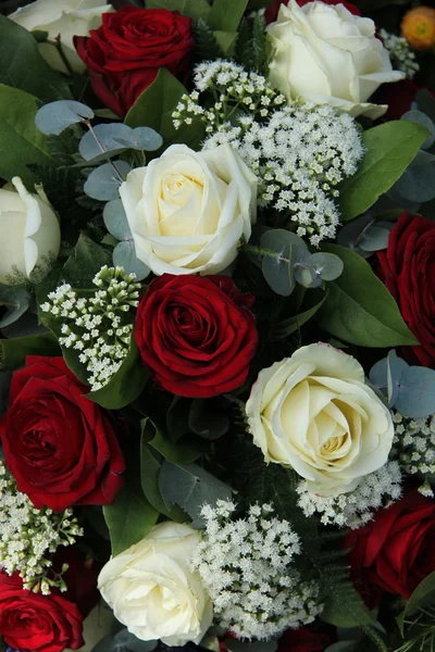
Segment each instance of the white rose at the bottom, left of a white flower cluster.
[{"label": "white rose at the bottom, left of a white flower cluster", "polygon": [[102,568],[98,588],[115,617],[138,639],[167,645],[199,643],[210,627],[211,601],[189,560],[201,539],[190,525],[156,525]]}]

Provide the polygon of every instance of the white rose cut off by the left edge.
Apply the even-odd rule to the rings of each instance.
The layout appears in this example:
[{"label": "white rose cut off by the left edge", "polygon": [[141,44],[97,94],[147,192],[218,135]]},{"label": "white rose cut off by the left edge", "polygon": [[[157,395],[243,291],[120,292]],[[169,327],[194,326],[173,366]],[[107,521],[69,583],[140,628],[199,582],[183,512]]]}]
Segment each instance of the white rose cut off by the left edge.
[{"label": "white rose cut off by the left edge", "polygon": [[50,204],[30,195],[20,177],[12,184],[17,192],[0,189],[0,283],[8,284],[14,271],[29,278],[35,266],[47,266],[57,256],[61,229]]}]

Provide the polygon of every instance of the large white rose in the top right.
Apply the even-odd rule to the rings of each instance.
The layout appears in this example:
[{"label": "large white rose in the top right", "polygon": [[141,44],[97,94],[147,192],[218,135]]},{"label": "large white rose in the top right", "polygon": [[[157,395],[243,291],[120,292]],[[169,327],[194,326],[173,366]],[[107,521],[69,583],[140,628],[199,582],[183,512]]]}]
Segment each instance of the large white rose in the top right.
[{"label": "large white rose in the top right", "polygon": [[405,78],[393,71],[374,22],[355,16],[343,4],[309,2],[300,8],[290,0],[288,7],[281,5],[268,33],[274,48],[270,80],[290,101],[302,98],[376,118],[387,106],[366,100],[381,84]]}]

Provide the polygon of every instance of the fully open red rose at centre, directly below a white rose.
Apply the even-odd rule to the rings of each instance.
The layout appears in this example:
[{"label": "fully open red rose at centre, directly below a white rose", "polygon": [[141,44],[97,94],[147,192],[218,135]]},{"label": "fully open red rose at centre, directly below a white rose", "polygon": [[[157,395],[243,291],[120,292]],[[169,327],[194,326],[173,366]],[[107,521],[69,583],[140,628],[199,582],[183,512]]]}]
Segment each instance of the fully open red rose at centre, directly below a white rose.
[{"label": "fully open red rose at centre, directly below a white rose", "polygon": [[240,387],[258,341],[252,302],[227,276],[163,274],[137,311],[142,361],[181,397],[207,399]]}]

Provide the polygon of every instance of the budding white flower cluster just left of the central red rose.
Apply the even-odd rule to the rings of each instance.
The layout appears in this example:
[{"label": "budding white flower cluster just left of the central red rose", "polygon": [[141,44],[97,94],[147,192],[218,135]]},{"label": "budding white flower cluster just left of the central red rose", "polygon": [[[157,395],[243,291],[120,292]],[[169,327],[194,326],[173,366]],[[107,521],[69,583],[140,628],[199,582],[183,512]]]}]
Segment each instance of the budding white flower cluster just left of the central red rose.
[{"label": "budding white flower cluster just left of the central red rose", "polygon": [[99,289],[92,297],[79,298],[64,284],[48,294],[44,312],[62,319],[59,342],[79,351],[92,390],[109,383],[128,354],[140,284],[123,267],[104,265],[92,279]]}]

